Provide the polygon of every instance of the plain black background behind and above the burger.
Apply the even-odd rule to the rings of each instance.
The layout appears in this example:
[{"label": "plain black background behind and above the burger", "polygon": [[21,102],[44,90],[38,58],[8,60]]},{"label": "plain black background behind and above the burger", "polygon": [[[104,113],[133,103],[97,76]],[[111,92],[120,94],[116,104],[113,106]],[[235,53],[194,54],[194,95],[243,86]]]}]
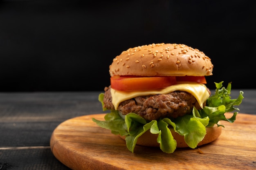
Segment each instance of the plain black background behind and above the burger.
[{"label": "plain black background behind and above the burger", "polygon": [[209,88],[256,87],[253,0],[0,0],[0,91],[103,91],[116,55],[161,42],[211,57]]}]

